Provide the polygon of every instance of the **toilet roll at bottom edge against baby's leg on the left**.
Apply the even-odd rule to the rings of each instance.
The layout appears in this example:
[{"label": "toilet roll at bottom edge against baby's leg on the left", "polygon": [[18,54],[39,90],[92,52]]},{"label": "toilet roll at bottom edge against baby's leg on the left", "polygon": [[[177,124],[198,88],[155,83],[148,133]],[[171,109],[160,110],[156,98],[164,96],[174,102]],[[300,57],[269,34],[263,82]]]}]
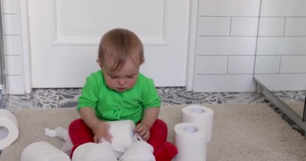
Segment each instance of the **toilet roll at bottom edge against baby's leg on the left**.
[{"label": "toilet roll at bottom edge against baby's leg on the left", "polygon": [[117,157],[112,149],[111,143],[88,142],[78,146],[72,155],[72,161],[117,161]]}]

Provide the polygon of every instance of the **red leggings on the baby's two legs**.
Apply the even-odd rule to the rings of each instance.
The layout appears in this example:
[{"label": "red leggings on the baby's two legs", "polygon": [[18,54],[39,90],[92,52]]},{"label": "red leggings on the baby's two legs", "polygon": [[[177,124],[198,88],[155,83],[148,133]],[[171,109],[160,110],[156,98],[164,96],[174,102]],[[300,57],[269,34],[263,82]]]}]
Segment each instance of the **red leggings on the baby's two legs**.
[{"label": "red leggings on the baby's two legs", "polygon": [[[170,161],[178,153],[177,148],[167,142],[168,128],[164,121],[157,119],[150,129],[150,138],[147,143],[154,147],[154,156],[157,161]],[[70,157],[75,148],[87,142],[94,142],[94,134],[82,119],[77,119],[69,125],[69,136],[73,143]]]}]

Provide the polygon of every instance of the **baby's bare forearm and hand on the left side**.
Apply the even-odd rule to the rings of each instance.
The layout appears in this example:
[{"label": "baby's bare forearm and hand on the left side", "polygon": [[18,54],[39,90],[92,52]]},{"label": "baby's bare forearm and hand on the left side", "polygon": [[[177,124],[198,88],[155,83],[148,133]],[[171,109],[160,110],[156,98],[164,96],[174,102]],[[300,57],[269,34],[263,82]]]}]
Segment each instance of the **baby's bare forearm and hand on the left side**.
[{"label": "baby's bare forearm and hand on the left side", "polygon": [[108,126],[104,121],[97,118],[96,111],[90,107],[80,109],[80,114],[85,124],[94,133],[94,142],[102,142],[102,138],[111,142],[112,136],[108,132]]}]

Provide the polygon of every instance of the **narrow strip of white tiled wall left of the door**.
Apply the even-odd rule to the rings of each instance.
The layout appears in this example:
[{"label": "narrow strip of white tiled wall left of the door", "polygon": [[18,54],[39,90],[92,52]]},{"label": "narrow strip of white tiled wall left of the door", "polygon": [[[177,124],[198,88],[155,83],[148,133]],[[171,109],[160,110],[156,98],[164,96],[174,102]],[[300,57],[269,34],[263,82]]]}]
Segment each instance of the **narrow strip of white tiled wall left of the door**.
[{"label": "narrow strip of white tiled wall left of the door", "polygon": [[24,94],[20,0],[3,0],[2,16],[9,94]]}]

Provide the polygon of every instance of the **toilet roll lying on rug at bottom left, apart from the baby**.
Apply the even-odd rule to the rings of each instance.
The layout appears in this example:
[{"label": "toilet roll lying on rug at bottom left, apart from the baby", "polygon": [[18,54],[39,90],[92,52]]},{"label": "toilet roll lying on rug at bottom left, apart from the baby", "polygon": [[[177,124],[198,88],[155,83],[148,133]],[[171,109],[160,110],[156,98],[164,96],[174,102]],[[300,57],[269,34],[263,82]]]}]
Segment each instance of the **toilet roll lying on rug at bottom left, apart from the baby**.
[{"label": "toilet roll lying on rug at bottom left, apart from the baby", "polygon": [[35,142],[28,145],[21,153],[21,161],[70,161],[70,157],[56,148],[55,146],[44,142]]}]

